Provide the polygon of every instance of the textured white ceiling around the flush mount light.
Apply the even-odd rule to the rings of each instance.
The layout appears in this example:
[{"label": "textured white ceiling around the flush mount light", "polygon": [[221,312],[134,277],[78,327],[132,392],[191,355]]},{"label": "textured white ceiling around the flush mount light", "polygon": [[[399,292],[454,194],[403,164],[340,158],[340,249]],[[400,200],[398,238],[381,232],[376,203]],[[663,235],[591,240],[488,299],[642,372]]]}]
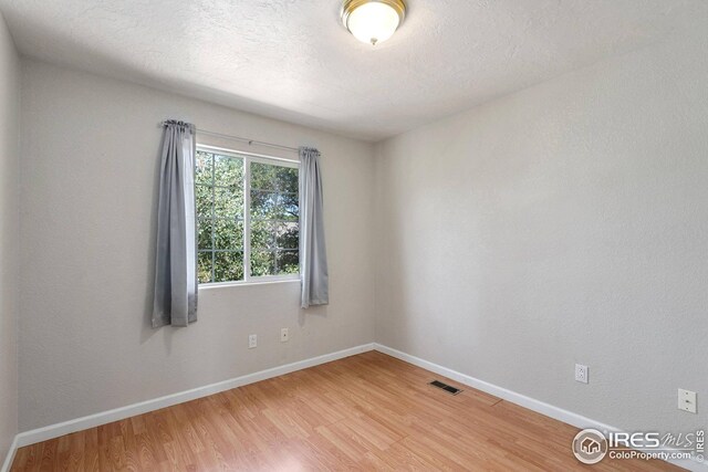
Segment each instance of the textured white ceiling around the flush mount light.
[{"label": "textured white ceiling around the flush mount light", "polygon": [[705,0],[408,0],[377,46],[341,0],[0,0],[21,53],[377,140],[671,34]]}]

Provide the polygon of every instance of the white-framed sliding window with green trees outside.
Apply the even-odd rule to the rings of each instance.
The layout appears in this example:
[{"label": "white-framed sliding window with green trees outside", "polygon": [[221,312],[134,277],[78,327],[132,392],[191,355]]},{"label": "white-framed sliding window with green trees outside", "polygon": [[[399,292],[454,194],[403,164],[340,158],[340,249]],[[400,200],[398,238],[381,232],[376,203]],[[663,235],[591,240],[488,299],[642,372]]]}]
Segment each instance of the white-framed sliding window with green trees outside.
[{"label": "white-framed sliding window with green trees outside", "polygon": [[298,162],[197,147],[199,283],[294,279]]}]

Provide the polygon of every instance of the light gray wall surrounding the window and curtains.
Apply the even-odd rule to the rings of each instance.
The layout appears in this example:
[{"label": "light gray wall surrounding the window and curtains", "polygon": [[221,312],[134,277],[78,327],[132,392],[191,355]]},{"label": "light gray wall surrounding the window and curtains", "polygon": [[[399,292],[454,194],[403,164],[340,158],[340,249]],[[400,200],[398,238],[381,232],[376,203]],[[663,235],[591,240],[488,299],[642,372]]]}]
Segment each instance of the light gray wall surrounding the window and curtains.
[{"label": "light gray wall surrounding the window and curtains", "polygon": [[[373,340],[371,144],[34,61],[22,81],[20,430]],[[298,282],[209,289],[195,325],[148,327],[170,117],[320,148],[329,306],[299,310]]]}]

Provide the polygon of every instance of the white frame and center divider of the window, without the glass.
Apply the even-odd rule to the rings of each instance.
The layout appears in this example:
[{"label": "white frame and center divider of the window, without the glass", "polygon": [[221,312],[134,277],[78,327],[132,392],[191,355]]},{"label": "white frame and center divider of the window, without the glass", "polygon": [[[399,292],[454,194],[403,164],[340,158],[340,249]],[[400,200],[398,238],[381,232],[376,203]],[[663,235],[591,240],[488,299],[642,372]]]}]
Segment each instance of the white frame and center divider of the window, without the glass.
[{"label": "white frame and center divider of the window, without the glass", "polygon": [[[244,185],[243,185],[243,280],[228,281],[228,282],[199,283],[198,284],[199,289],[299,281],[300,274],[259,275],[259,276],[251,275],[251,162],[261,162],[261,164],[268,164],[271,166],[290,167],[293,169],[298,169],[298,175],[300,175],[300,160],[288,159],[284,157],[268,156],[263,154],[246,153],[242,150],[227,149],[227,148],[217,147],[217,146],[208,146],[199,143],[197,143],[197,150],[243,159],[243,180],[244,180]],[[300,224],[300,218],[298,218],[298,224]],[[298,254],[298,256],[300,256],[300,254]]]}]

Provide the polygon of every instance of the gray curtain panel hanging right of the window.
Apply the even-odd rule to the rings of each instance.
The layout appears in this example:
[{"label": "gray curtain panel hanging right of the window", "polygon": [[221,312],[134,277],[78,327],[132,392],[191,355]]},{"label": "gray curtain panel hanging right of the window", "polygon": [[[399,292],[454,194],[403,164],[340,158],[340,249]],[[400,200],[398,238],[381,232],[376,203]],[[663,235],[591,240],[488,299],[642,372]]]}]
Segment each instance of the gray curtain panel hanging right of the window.
[{"label": "gray curtain panel hanging right of the window", "polygon": [[330,303],[320,151],[306,147],[300,148],[300,277],[303,308]]}]

